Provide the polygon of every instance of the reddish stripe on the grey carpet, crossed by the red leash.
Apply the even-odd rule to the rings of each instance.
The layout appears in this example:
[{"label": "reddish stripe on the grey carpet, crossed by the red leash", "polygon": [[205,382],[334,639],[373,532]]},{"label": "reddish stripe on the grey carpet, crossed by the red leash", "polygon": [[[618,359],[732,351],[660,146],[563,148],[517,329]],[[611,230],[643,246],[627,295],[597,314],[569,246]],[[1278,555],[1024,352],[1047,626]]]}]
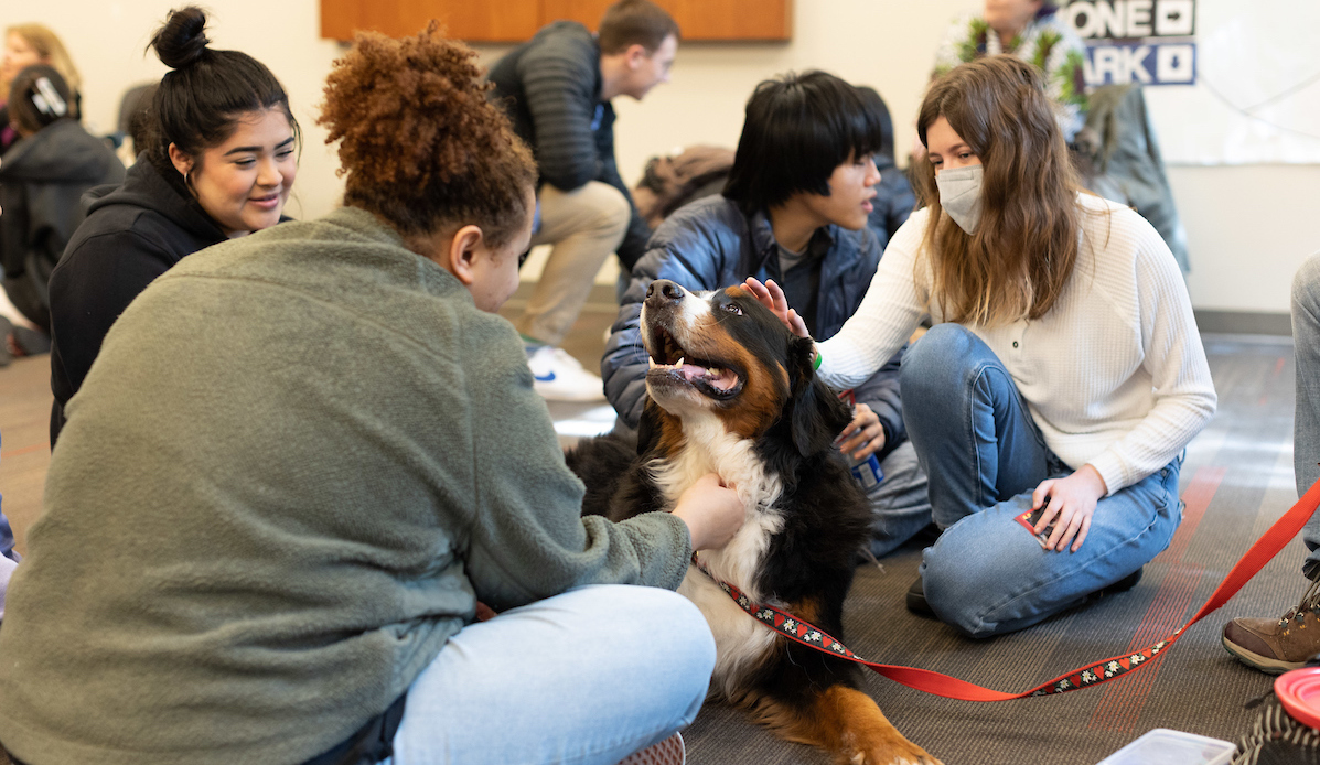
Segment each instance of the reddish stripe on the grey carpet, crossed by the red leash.
[{"label": "reddish stripe on the grey carpet, crossed by the red leash", "polygon": [[[1184,566],[1183,554],[1191,545],[1192,537],[1196,536],[1196,528],[1201,525],[1205,509],[1210,506],[1210,500],[1214,499],[1214,492],[1218,491],[1226,472],[1225,467],[1203,467],[1196,471],[1187,491],[1183,492],[1183,501],[1187,504],[1183,509],[1183,522],[1173,533],[1173,541],[1170,542],[1168,549],[1156,555],[1154,561],[1167,565],[1168,574],[1160,582],[1155,599],[1146,609],[1146,616],[1137,627],[1131,642],[1127,644],[1129,652],[1135,653],[1168,637],[1187,621],[1188,608],[1196,595],[1196,586],[1200,584],[1205,570],[1199,566]],[[1159,677],[1159,665],[1163,658],[1160,656],[1151,659],[1150,666],[1140,671],[1106,685],[1101,690],[1100,702],[1096,704],[1096,711],[1092,712],[1086,727],[1098,731],[1130,732],[1137,725],[1151,687]]]}]

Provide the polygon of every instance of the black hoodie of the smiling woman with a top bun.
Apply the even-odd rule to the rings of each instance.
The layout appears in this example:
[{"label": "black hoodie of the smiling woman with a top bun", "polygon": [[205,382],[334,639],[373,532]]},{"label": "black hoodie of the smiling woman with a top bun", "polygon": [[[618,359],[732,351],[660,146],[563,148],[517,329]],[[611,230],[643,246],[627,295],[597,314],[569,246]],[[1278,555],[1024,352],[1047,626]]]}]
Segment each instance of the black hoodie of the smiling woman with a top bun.
[{"label": "black hoodie of the smiling woman with a top bun", "polygon": [[51,447],[65,425],[65,405],[82,386],[119,314],[183,256],[227,239],[145,154],[121,186],[106,191],[90,193],[95,199],[87,219],[50,274]]}]

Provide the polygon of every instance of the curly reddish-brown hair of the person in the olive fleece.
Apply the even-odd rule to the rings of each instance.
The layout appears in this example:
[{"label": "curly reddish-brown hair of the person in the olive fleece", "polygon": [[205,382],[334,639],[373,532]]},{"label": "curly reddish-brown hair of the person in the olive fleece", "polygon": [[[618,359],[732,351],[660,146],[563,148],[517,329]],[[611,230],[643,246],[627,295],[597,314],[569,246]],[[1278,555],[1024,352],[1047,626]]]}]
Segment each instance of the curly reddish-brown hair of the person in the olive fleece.
[{"label": "curly reddish-brown hair of the person in the olive fleece", "polygon": [[321,119],[339,141],[345,204],[400,233],[477,223],[491,247],[532,215],[536,162],[508,119],[486,99],[477,53],[432,21],[416,37],[359,32],[334,62]]}]

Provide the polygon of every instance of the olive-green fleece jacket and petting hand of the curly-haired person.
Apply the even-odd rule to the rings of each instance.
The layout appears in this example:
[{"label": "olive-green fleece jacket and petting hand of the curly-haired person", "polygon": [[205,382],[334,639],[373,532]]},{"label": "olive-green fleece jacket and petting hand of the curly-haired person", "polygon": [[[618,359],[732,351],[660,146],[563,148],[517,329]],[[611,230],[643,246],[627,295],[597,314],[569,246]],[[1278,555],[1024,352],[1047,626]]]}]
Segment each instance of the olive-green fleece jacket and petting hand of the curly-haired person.
[{"label": "olive-green fleece jacket and petting hand of the curly-haired person", "polygon": [[667,513],[579,517],[513,327],[360,210],[183,260],[67,413],[0,629],[29,765],[301,762],[477,599],[675,588],[692,554]]}]

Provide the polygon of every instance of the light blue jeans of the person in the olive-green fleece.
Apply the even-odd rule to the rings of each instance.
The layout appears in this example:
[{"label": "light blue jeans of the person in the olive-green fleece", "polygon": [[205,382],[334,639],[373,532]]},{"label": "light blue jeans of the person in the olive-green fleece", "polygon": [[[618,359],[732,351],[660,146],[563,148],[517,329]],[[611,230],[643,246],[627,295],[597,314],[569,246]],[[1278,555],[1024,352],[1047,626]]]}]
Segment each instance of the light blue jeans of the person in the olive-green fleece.
[{"label": "light blue jeans of the person in the olive-green fleece", "polygon": [[614,765],[689,725],[714,666],[686,597],[572,590],[449,638],[408,688],[392,764]]}]

